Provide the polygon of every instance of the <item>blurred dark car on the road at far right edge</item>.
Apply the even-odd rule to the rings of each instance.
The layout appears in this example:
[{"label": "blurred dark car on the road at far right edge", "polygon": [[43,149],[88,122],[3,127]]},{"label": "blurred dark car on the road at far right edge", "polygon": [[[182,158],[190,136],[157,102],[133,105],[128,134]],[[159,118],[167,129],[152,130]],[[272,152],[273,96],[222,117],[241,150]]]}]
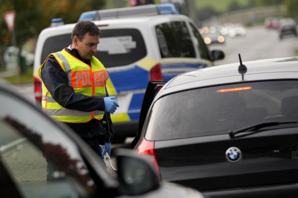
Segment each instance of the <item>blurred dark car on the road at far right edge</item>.
[{"label": "blurred dark car on the road at far right edge", "polygon": [[282,40],[286,36],[298,37],[297,24],[293,18],[282,18],[279,20],[279,38]]}]

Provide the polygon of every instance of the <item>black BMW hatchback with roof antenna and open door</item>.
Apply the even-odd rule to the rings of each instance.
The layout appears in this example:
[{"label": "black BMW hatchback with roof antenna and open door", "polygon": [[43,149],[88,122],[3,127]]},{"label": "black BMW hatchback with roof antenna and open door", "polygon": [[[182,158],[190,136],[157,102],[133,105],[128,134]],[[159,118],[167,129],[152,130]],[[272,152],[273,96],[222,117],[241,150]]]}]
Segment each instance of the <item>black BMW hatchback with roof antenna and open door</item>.
[{"label": "black BMW hatchback with roof antenna and open door", "polygon": [[149,88],[134,143],[162,180],[210,198],[298,197],[298,57],[205,68]]}]

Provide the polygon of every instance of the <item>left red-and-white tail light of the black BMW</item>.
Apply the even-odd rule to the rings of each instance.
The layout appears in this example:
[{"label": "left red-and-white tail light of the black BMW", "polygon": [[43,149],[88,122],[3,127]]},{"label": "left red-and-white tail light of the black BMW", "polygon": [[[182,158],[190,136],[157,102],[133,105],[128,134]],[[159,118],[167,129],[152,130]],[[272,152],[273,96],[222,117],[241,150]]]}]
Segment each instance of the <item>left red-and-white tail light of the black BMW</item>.
[{"label": "left red-and-white tail light of the black BMW", "polygon": [[148,141],[143,137],[140,144],[136,148],[136,152],[138,154],[146,155],[149,157],[149,160],[152,162],[158,178],[161,179],[160,173],[159,173],[159,167],[158,167],[158,163],[157,163],[156,155],[154,151],[154,142]]}]

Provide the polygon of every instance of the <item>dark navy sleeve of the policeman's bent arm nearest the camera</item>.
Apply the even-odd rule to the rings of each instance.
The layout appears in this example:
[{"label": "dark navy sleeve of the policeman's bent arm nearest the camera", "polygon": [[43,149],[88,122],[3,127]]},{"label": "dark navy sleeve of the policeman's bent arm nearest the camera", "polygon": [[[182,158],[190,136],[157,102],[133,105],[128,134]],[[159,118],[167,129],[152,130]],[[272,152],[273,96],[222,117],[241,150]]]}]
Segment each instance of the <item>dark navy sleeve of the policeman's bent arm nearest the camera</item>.
[{"label": "dark navy sleeve of the policeman's bent arm nearest the camera", "polygon": [[74,89],[68,85],[67,74],[52,55],[41,68],[41,78],[52,98],[61,106],[85,112],[105,110],[103,98],[74,93]]}]

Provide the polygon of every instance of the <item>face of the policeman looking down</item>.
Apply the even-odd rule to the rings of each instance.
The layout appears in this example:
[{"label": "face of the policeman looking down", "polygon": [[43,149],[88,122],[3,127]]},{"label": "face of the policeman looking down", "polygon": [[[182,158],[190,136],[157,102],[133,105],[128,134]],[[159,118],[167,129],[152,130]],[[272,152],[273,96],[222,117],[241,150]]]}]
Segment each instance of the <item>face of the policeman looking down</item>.
[{"label": "face of the policeman looking down", "polygon": [[77,37],[74,37],[73,47],[77,49],[79,55],[85,59],[90,60],[93,54],[97,50],[97,45],[99,44],[99,36],[91,36],[86,33],[81,41]]}]

